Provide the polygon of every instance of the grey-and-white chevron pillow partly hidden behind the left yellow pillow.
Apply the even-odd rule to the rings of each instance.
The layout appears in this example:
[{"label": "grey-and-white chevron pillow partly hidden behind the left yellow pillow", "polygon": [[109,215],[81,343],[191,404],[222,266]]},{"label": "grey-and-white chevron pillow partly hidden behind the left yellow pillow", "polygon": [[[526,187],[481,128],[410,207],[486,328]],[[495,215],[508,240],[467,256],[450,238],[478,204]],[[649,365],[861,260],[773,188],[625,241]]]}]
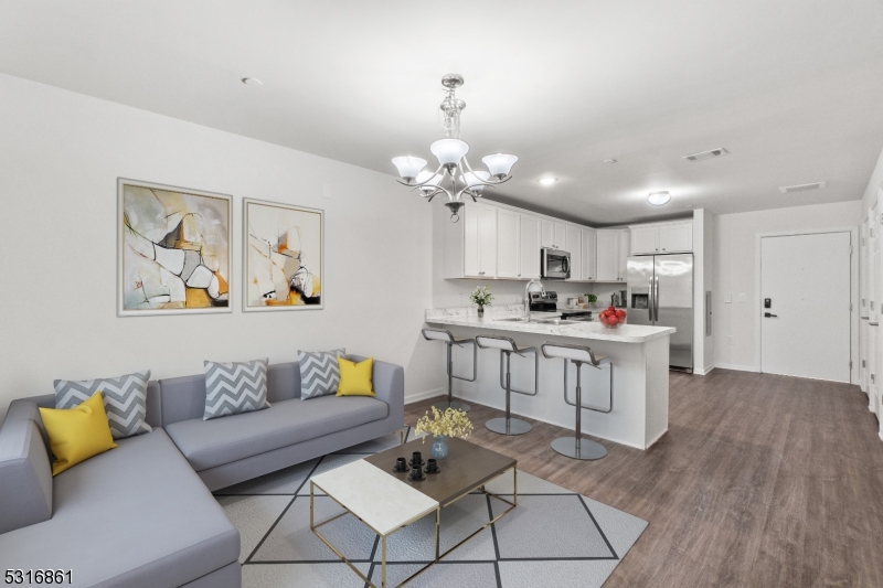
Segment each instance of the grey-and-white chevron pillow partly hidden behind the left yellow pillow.
[{"label": "grey-and-white chevron pillow partly hidden behind the left yellow pillow", "polygon": [[73,408],[102,391],[104,409],[114,439],[150,432],[147,417],[147,382],[150,370],[119,377],[103,377],[71,382],[55,381],[55,408]]}]

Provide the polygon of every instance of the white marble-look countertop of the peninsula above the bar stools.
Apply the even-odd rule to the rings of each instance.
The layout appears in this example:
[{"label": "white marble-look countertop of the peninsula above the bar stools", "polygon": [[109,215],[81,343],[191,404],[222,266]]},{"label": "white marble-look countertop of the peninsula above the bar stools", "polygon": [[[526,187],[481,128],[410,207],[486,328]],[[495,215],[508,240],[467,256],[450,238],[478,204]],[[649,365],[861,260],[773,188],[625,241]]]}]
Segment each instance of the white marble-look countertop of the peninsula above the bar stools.
[{"label": "white marble-look countertop of the peninsula above the bar stools", "polygon": [[608,329],[594,321],[577,322],[576,324],[541,324],[501,320],[523,314],[523,310],[513,312],[510,308],[497,309],[497,312],[486,310],[483,318],[479,318],[472,309],[430,309],[426,311],[426,322],[429,324],[453,324],[474,329],[536,333],[619,343],[646,343],[653,339],[670,335],[675,331],[673,327],[649,327],[628,323],[620,324],[616,329]]}]

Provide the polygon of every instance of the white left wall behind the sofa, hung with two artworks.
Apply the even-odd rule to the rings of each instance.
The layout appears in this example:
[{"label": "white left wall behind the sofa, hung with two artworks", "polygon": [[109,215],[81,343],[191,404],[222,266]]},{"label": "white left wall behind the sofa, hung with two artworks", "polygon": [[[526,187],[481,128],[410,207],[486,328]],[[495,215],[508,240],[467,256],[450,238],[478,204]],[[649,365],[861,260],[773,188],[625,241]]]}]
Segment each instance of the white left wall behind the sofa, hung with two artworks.
[{"label": "white left wall behind the sofa, hung with two artworks", "polygon": [[[339,345],[404,365],[409,395],[444,385],[430,207],[392,177],[6,75],[0,104],[0,417],[58,377]],[[116,317],[118,177],[234,196],[233,313]],[[243,196],[325,209],[325,310],[242,312]]]}]

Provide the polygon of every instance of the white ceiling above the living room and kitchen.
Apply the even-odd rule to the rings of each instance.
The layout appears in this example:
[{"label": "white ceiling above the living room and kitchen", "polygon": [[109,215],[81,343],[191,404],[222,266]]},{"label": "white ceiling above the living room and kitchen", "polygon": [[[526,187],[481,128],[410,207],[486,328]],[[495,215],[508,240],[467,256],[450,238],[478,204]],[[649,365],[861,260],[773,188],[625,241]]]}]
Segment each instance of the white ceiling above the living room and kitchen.
[{"label": "white ceiling above the living room and kitchen", "polygon": [[497,199],[614,224],[860,199],[882,30],[880,0],[4,0],[0,72],[391,175],[456,72],[472,162],[521,158]]}]

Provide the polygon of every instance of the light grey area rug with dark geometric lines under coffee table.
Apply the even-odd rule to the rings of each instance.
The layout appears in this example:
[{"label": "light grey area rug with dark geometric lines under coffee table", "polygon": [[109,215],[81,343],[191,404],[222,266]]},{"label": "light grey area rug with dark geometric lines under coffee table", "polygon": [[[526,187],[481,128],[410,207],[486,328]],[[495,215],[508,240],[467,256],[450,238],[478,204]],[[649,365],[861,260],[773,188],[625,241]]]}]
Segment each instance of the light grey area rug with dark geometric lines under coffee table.
[{"label": "light grey area rug with dark geometric lines under coffee table", "polygon": [[[413,439],[408,428],[408,440]],[[215,492],[240,530],[244,588],[364,588],[309,526],[309,479],[398,445],[390,435]],[[427,445],[428,451],[428,445]],[[487,485],[512,494],[512,478]],[[506,505],[485,494],[442,511],[442,549],[490,521]],[[316,518],[342,509],[316,498]],[[413,588],[600,587],[647,522],[526,472],[518,473],[518,507],[409,584]],[[387,580],[395,586],[432,560],[435,516],[395,533],[387,543]],[[380,586],[380,538],[348,514],[323,534]]]}]

